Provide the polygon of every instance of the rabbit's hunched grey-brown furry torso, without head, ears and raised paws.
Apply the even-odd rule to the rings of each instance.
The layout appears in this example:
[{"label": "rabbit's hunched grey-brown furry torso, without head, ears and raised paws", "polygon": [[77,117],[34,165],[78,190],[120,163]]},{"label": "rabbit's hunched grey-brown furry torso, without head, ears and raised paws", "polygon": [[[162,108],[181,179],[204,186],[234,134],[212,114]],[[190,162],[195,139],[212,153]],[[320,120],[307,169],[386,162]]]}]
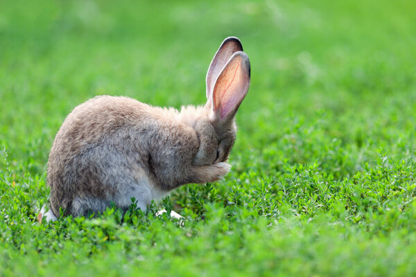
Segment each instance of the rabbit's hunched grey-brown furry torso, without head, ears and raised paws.
[{"label": "rabbit's hunched grey-brown furry torso, without head, ears and raised paws", "polygon": [[180,184],[198,151],[177,111],[125,97],[98,96],[64,120],[48,162],[51,208],[59,215],[143,203]]}]

